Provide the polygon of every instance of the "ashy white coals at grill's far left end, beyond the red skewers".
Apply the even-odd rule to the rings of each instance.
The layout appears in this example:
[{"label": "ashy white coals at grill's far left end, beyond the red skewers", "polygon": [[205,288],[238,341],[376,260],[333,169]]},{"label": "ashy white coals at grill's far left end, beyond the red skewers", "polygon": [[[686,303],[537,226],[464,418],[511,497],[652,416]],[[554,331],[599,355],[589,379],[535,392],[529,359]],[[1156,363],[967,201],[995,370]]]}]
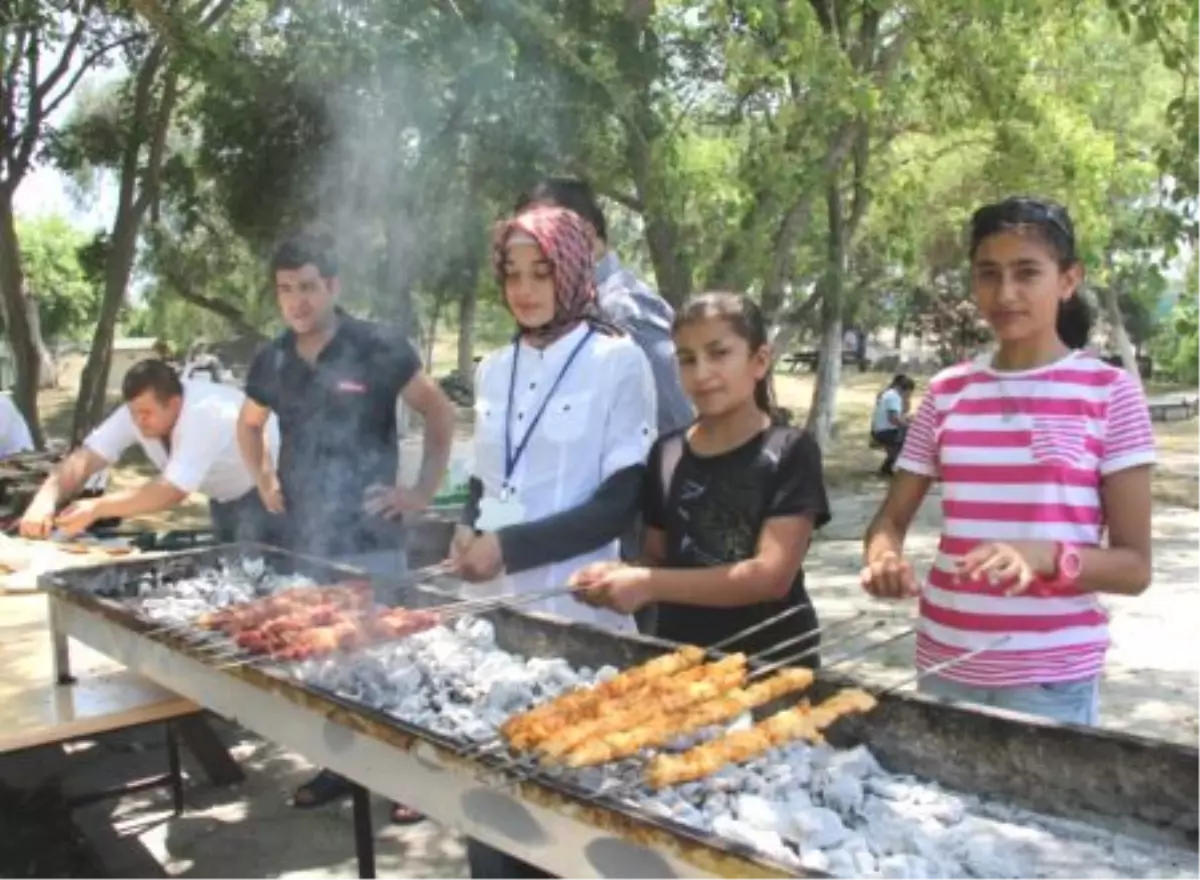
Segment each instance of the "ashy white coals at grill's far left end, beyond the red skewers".
[{"label": "ashy white coals at grill's far left end, beyond the red skewers", "polygon": [[311,577],[277,574],[260,558],[244,558],[166,583],[155,574],[144,574],[132,605],[156,623],[184,624],[227,605],[311,586],[316,586]]}]

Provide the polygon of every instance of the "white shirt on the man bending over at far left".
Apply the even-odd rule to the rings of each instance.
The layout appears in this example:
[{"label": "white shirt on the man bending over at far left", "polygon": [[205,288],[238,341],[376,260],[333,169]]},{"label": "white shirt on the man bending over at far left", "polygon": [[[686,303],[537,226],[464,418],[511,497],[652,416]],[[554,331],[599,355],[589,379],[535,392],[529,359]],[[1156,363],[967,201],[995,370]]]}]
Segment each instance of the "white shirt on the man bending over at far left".
[{"label": "white shirt on the man bending over at far left", "polygon": [[[200,492],[212,501],[235,501],[254,491],[254,478],[238,449],[238,414],[246,400],[239,389],[211,382],[184,383],[184,405],[170,432],[170,453],[162,441],[144,437],[130,408],[119,406],[92,431],[84,445],[109,463],[134,443],[162,473],[184,492]],[[268,421],[268,448],[278,461],[280,430],[275,417]]]}]

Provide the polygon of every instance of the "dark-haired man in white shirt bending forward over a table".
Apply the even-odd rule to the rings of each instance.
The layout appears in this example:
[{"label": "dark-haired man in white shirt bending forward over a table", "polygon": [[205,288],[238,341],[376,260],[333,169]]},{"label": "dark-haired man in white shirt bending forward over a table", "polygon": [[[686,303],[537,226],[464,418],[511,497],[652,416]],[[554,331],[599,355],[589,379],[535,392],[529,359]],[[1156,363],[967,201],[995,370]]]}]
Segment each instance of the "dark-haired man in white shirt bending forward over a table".
[{"label": "dark-haired man in white shirt bending forward over a table", "polygon": [[[79,534],[96,520],[143,516],[175,507],[192,492],[209,497],[212,529],[221,541],[276,543],[278,520],[266,511],[256,480],[238,450],[238,414],[245,395],[229,385],[181,382],[162,360],[134,364],[121,383],[118,407],[55,468],[20,521],[20,532],[44,538],[55,527]],[[272,456],[278,431],[268,426]],[[116,462],[134,443],[161,475],[137,489],[76,501],[55,515],[60,502]]]}]

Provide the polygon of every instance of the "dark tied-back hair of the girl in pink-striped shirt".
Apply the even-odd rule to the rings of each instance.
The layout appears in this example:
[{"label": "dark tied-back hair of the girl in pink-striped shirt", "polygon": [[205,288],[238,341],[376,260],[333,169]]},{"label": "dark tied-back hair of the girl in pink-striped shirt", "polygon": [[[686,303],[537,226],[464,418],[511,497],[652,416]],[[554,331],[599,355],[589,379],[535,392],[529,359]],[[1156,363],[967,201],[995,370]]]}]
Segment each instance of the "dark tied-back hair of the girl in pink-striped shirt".
[{"label": "dark tied-back hair of the girl in pink-striped shirt", "polygon": [[[984,205],[971,216],[971,259],[985,239],[1009,231],[1034,235],[1050,249],[1061,270],[1080,262],[1075,251],[1075,225],[1067,209],[1057,202],[1024,196]],[[1076,289],[1070,299],[1058,303],[1055,329],[1068,348],[1085,348],[1093,321],[1091,307]]]}]

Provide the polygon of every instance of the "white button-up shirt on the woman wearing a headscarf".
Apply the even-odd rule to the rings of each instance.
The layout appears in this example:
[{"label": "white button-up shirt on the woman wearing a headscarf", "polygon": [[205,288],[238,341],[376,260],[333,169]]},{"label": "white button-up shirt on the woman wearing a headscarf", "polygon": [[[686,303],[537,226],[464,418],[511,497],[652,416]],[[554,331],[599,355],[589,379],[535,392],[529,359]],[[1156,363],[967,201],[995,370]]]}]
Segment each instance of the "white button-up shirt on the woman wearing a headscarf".
[{"label": "white button-up shirt on the woman wearing a headscarf", "polygon": [[[475,373],[474,474],[484,485],[484,498],[500,498],[504,493],[505,423],[510,423],[511,447],[516,450],[588,329],[580,325],[545,349],[518,343],[511,414],[508,401],[515,347],[508,345],[480,363]],[[646,463],[656,424],[654,376],[646,355],[628,336],[595,331],[563,375],[535,425],[508,484],[510,497],[521,505],[527,522],[578,507],[612,474]],[[492,587],[504,595],[552,589],[565,586],[583,565],[618,558],[618,541],[613,539],[572,559],[502,575]],[[610,630],[636,629],[631,616],[594,609],[570,595],[542,600],[529,610]]]}]

